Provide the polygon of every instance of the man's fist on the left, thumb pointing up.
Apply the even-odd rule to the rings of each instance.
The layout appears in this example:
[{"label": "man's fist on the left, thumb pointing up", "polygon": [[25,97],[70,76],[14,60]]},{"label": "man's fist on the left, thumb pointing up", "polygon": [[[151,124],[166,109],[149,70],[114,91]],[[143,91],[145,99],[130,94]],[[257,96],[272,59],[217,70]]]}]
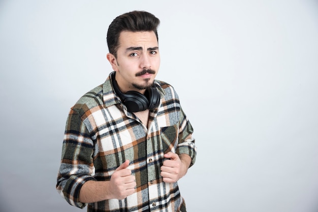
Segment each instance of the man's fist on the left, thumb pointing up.
[{"label": "man's fist on the left, thumb pointing up", "polygon": [[135,192],[136,178],[128,166],[129,160],[126,160],[111,176],[109,189],[114,199],[124,199]]}]

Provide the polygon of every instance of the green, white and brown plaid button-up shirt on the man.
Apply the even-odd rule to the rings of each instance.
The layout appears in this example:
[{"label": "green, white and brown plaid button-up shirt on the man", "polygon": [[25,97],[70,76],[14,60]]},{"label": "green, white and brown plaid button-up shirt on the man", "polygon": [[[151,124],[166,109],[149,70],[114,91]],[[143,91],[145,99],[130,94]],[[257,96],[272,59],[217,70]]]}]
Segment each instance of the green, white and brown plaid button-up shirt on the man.
[{"label": "green, white and brown plaid button-up shirt on the man", "polygon": [[148,128],[126,110],[110,77],[83,95],[71,108],[62,146],[56,189],[71,205],[83,208],[79,192],[87,181],[109,181],[126,159],[136,176],[136,192],[123,200],[88,203],[87,211],[179,211],[184,200],[177,183],[165,183],[160,168],[164,154],[188,154],[195,163],[193,128],[173,87],[155,81],[161,93],[149,112]]}]

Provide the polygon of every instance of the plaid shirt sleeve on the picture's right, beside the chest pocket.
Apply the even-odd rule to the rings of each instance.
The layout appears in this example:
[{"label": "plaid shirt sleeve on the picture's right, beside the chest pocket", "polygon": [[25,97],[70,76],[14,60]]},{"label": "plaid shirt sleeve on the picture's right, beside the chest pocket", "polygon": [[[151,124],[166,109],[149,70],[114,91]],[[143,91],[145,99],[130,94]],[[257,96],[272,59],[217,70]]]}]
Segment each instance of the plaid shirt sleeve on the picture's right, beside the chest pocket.
[{"label": "plaid shirt sleeve on the picture's right, beside the chest pocket", "polygon": [[197,147],[195,146],[195,138],[192,136],[193,127],[182,109],[180,112],[179,123],[179,140],[176,153],[189,155],[192,158],[190,164],[191,167],[196,162]]}]

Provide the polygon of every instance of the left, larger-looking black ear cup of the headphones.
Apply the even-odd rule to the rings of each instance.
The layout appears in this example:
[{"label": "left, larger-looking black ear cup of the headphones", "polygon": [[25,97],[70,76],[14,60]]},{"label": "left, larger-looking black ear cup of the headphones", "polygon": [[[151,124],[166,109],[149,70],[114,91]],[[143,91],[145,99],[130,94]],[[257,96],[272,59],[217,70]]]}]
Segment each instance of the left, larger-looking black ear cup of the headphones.
[{"label": "left, larger-looking black ear cup of the headphones", "polygon": [[137,91],[128,91],[123,96],[123,102],[128,111],[134,113],[148,109],[149,101],[143,94]]}]

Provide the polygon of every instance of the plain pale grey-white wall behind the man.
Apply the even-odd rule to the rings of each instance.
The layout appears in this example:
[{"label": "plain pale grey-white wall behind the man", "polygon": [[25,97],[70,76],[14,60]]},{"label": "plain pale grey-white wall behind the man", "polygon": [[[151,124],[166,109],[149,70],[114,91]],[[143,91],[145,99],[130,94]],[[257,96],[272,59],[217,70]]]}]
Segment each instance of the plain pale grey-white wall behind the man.
[{"label": "plain pale grey-white wall behind the man", "polygon": [[0,1],[0,210],[83,211],[55,190],[65,122],[132,10],[161,19],[157,79],[195,128],[188,211],[318,211],[314,0]]}]

